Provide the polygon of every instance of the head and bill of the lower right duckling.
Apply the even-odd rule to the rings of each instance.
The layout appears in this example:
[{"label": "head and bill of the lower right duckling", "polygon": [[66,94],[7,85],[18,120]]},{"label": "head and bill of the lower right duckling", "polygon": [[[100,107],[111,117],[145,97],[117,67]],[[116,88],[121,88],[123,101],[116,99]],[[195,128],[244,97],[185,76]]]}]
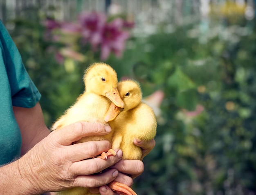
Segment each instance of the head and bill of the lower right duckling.
[{"label": "head and bill of the lower right duckling", "polygon": [[117,89],[121,99],[124,101],[124,108],[119,108],[111,103],[108,112],[104,116],[106,122],[114,120],[120,112],[131,110],[141,103],[142,92],[137,81],[120,81],[117,85]]}]

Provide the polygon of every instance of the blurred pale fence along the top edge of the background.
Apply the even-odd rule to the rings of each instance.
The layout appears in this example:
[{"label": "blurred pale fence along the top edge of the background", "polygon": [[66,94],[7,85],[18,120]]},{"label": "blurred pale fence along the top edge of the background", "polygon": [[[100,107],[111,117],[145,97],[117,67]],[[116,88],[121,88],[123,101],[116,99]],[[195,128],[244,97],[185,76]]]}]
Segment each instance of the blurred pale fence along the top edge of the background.
[{"label": "blurred pale fence along the top edge of the background", "polygon": [[[232,3],[232,9],[229,5]],[[74,21],[82,11],[101,11],[109,15],[124,14],[135,22],[134,36],[154,34],[159,24],[166,33],[175,31],[177,25],[192,24],[201,20],[200,27],[188,36],[198,36],[206,43],[211,34],[209,15],[220,15],[240,9],[247,20],[255,17],[256,0],[0,0],[0,19],[5,23],[13,18],[31,17],[28,10],[57,20]],[[243,9],[244,7],[244,9]],[[217,13],[216,13],[217,11]],[[211,27],[212,29],[212,27]]]}]

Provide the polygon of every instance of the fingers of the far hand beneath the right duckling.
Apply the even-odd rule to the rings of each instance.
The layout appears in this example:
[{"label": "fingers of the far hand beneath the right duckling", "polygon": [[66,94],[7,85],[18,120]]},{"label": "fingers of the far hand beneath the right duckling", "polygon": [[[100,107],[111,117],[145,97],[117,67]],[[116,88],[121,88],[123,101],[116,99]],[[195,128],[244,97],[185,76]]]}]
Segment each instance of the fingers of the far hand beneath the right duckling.
[{"label": "fingers of the far hand beneath the right duckling", "polygon": [[[117,169],[119,174],[114,181],[126,184],[131,187],[133,184],[133,179],[139,176],[144,171],[144,164],[140,160],[121,160],[117,162],[114,166],[110,168]],[[133,179],[132,179],[133,178]],[[117,195],[108,186],[101,186],[100,188],[91,188],[91,193],[101,193],[101,195]]]}]

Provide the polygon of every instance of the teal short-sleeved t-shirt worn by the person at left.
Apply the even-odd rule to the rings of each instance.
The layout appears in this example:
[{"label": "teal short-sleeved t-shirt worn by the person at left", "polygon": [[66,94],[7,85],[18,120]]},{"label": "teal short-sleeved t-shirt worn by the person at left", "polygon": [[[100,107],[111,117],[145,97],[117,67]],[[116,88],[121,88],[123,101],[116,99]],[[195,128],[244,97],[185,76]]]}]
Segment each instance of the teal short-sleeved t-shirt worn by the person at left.
[{"label": "teal short-sleeved t-shirt worn by the person at left", "polygon": [[32,108],[40,97],[0,21],[0,165],[20,156],[22,139],[12,106]]}]

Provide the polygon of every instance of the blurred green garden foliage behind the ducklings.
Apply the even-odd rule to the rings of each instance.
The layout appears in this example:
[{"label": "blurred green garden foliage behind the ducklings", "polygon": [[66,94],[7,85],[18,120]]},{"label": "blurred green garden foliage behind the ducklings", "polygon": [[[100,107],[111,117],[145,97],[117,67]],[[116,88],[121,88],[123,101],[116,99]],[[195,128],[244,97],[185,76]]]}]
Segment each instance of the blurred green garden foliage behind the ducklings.
[{"label": "blurred green garden foliage behind the ducklings", "polygon": [[[208,34],[217,28],[215,35],[202,33],[200,20],[172,33],[163,25],[146,38],[131,38],[121,59],[111,55],[106,61],[119,79],[139,81],[144,96],[156,90],[165,94],[156,146],[135,179],[140,195],[256,192],[256,21],[212,20]],[[10,33],[51,126],[83,92],[83,71],[99,54],[88,47],[85,63],[71,58],[56,63],[40,21],[35,11],[31,20],[12,21]],[[202,113],[189,115],[198,105]]]}]

